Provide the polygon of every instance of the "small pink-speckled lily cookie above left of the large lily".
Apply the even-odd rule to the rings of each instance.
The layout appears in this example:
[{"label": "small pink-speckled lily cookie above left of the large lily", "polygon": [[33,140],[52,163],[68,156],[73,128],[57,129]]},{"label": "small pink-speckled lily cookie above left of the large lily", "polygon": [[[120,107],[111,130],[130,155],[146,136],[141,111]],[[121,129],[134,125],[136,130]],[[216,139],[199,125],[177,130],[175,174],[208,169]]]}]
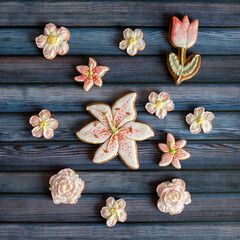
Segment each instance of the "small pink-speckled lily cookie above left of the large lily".
[{"label": "small pink-speckled lily cookie above left of the large lily", "polygon": [[102,77],[110,70],[107,66],[97,66],[97,62],[93,58],[89,58],[88,66],[80,65],[77,66],[76,69],[81,75],[75,77],[74,80],[84,82],[83,88],[86,92],[88,92],[94,84],[101,87],[103,84]]}]

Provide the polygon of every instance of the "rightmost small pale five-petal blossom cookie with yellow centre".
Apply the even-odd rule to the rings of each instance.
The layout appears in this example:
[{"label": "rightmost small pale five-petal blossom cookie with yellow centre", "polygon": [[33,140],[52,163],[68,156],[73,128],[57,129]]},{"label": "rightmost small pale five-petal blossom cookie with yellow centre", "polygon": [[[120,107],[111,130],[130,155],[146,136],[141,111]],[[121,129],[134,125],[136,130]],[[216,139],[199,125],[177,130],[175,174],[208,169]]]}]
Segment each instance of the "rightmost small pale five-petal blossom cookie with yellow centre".
[{"label": "rightmost small pale five-petal blossom cookie with yellow centre", "polygon": [[189,113],[186,116],[186,122],[191,125],[190,132],[193,134],[198,134],[201,130],[204,133],[209,133],[212,131],[211,121],[214,119],[214,114],[212,112],[205,112],[204,107],[198,107],[194,109],[194,114]]}]

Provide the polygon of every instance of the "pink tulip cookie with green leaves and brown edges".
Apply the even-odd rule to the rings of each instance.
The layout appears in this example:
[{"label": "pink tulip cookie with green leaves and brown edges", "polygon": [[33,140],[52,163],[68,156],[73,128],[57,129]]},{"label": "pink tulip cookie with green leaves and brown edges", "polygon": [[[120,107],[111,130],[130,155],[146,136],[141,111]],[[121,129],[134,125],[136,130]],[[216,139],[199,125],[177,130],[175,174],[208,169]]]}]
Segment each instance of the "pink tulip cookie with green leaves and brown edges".
[{"label": "pink tulip cookie with green leaves and brown edges", "polygon": [[184,16],[182,21],[177,17],[172,17],[169,28],[169,42],[178,49],[178,54],[168,52],[167,66],[175,84],[179,85],[182,81],[192,78],[201,64],[201,56],[198,53],[186,57],[186,51],[191,48],[198,35],[198,20],[191,24],[188,16]]}]

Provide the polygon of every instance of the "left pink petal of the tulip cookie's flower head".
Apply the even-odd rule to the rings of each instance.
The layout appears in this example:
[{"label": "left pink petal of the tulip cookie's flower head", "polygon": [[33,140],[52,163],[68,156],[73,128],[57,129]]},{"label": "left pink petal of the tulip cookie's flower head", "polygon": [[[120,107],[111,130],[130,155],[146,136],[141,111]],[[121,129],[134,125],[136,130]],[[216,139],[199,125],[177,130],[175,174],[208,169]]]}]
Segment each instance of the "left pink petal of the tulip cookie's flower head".
[{"label": "left pink petal of the tulip cookie's flower head", "polygon": [[171,41],[177,47],[186,47],[187,43],[187,31],[185,30],[182,22],[177,18],[172,18],[171,28]]}]

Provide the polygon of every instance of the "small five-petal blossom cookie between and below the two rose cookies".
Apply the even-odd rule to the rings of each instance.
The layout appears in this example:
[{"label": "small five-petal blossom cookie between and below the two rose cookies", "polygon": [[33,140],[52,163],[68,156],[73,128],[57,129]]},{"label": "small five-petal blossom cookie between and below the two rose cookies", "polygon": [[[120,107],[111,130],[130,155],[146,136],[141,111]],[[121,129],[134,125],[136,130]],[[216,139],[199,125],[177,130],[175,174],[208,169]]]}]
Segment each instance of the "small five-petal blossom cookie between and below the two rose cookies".
[{"label": "small five-petal blossom cookie between and below the two rose cookies", "polygon": [[108,227],[113,227],[117,222],[125,222],[127,213],[125,211],[126,202],[124,199],[115,201],[113,197],[109,197],[106,201],[106,207],[101,210],[101,216],[107,219]]}]

